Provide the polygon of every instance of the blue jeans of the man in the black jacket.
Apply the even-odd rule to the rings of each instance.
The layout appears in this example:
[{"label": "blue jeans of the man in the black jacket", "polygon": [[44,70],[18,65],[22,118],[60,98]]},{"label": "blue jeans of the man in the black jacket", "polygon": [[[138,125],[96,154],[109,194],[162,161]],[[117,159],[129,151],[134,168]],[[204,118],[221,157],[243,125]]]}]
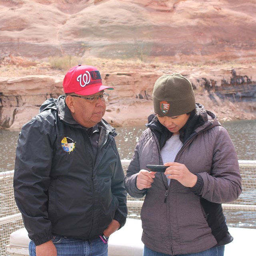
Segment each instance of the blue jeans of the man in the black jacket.
[{"label": "blue jeans of the man in the black jacket", "polygon": [[[108,244],[100,237],[92,240],[80,240],[53,236],[52,242],[56,246],[57,256],[108,256]],[[29,255],[36,256],[36,246],[33,241],[29,243]]]}]

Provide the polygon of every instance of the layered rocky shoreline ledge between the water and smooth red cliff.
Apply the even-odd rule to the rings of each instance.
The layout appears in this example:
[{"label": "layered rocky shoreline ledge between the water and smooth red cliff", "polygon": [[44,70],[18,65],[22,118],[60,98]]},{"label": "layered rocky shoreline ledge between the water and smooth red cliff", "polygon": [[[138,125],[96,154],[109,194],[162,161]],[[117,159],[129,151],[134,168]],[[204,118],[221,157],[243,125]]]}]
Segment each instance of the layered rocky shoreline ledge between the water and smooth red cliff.
[{"label": "layered rocky shoreline ledge between the water and smooth red cliff", "polygon": [[[104,116],[115,127],[145,124],[152,113],[154,82],[159,76],[174,72],[181,73],[192,82],[196,102],[214,112],[220,121],[256,119],[255,64],[193,66],[104,59],[94,59],[89,64],[100,70],[103,83],[115,87]],[[245,88],[245,82],[232,84],[234,71],[238,78],[250,79],[252,98],[234,100],[222,97],[227,90],[230,95],[236,95]],[[53,69],[47,62],[28,62],[22,58],[0,65],[0,128],[20,129],[38,113],[46,98],[63,94],[65,73],[66,70]],[[224,80],[226,86],[223,85]],[[230,86],[233,88],[231,92]]]}]

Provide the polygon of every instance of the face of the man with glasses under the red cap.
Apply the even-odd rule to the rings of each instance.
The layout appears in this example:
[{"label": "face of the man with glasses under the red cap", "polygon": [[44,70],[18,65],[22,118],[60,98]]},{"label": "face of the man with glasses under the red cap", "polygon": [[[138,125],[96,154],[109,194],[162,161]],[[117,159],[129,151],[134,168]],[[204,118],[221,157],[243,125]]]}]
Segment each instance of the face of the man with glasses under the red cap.
[{"label": "face of the man with glasses under the red cap", "polygon": [[[97,96],[102,94],[104,94],[104,91],[101,91],[92,95],[86,95],[86,96],[79,95],[79,94],[74,94],[74,95],[90,98],[92,96]],[[76,120],[78,124],[81,124],[86,128],[90,128],[96,125],[98,122],[100,122],[100,120],[102,119],[102,117],[106,112],[106,100],[103,100],[100,97],[98,99],[97,97],[95,97],[94,100],[88,100],[88,99],[79,98],[76,96],[70,95],[73,101],[73,108],[71,113],[74,120]]]}]

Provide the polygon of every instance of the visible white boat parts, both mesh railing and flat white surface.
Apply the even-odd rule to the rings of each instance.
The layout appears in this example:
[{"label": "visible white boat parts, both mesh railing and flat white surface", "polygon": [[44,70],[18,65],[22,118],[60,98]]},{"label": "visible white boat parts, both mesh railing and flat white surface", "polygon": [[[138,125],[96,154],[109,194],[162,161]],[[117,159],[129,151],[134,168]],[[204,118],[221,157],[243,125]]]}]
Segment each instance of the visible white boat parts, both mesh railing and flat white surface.
[{"label": "visible white boat parts, both mesh railing and flat white surface", "polygon": [[[130,160],[122,160],[124,171]],[[242,176],[242,194],[233,203],[222,204],[225,216],[228,216],[230,234],[234,241],[225,247],[225,256],[256,256],[256,160],[240,160]],[[14,171],[0,172],[0,255],[27,256],[29,238],[22,216],[13,195]],[[142,227],[140,210],[143,198],[128,195],[128,219],[126,225],[111,235],[109,256],[142,256]],[[8,206],[8,207],[7,207]],[[235,226],[235,228],[233,227]],[[243,227],[243,228],[240,228]],[[16,231],[15,231],[16,230]],[[9,239],[10,238],[10,239]],[[6,246],[7,244],[7,246]]]}]

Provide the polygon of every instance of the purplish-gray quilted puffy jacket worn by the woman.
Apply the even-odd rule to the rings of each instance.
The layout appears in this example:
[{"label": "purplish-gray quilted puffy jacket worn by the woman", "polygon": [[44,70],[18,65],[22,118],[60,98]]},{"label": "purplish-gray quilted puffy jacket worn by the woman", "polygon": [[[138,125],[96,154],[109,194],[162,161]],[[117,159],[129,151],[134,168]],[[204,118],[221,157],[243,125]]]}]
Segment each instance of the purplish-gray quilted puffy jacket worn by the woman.
[{"label": "purplish-gray quilted puffy jacket worn by the woman", "polygon": [[166,176],[157,173],[151,188],[136,188],[140,170],[147,170],[147,164],[163,164],[160,148],[168,133],[171,136],[152,116],[125,177],[130,196],[146,195],[141,210],[142,242],[164,254],[201,252],[232,241],[221,204],[236,200],[242,191],[236,150],[216,116],[197,105],[200,125],[187,127],[175,159],[198,176],[197,184],[187,188],[171,180],[168,186]]}]

